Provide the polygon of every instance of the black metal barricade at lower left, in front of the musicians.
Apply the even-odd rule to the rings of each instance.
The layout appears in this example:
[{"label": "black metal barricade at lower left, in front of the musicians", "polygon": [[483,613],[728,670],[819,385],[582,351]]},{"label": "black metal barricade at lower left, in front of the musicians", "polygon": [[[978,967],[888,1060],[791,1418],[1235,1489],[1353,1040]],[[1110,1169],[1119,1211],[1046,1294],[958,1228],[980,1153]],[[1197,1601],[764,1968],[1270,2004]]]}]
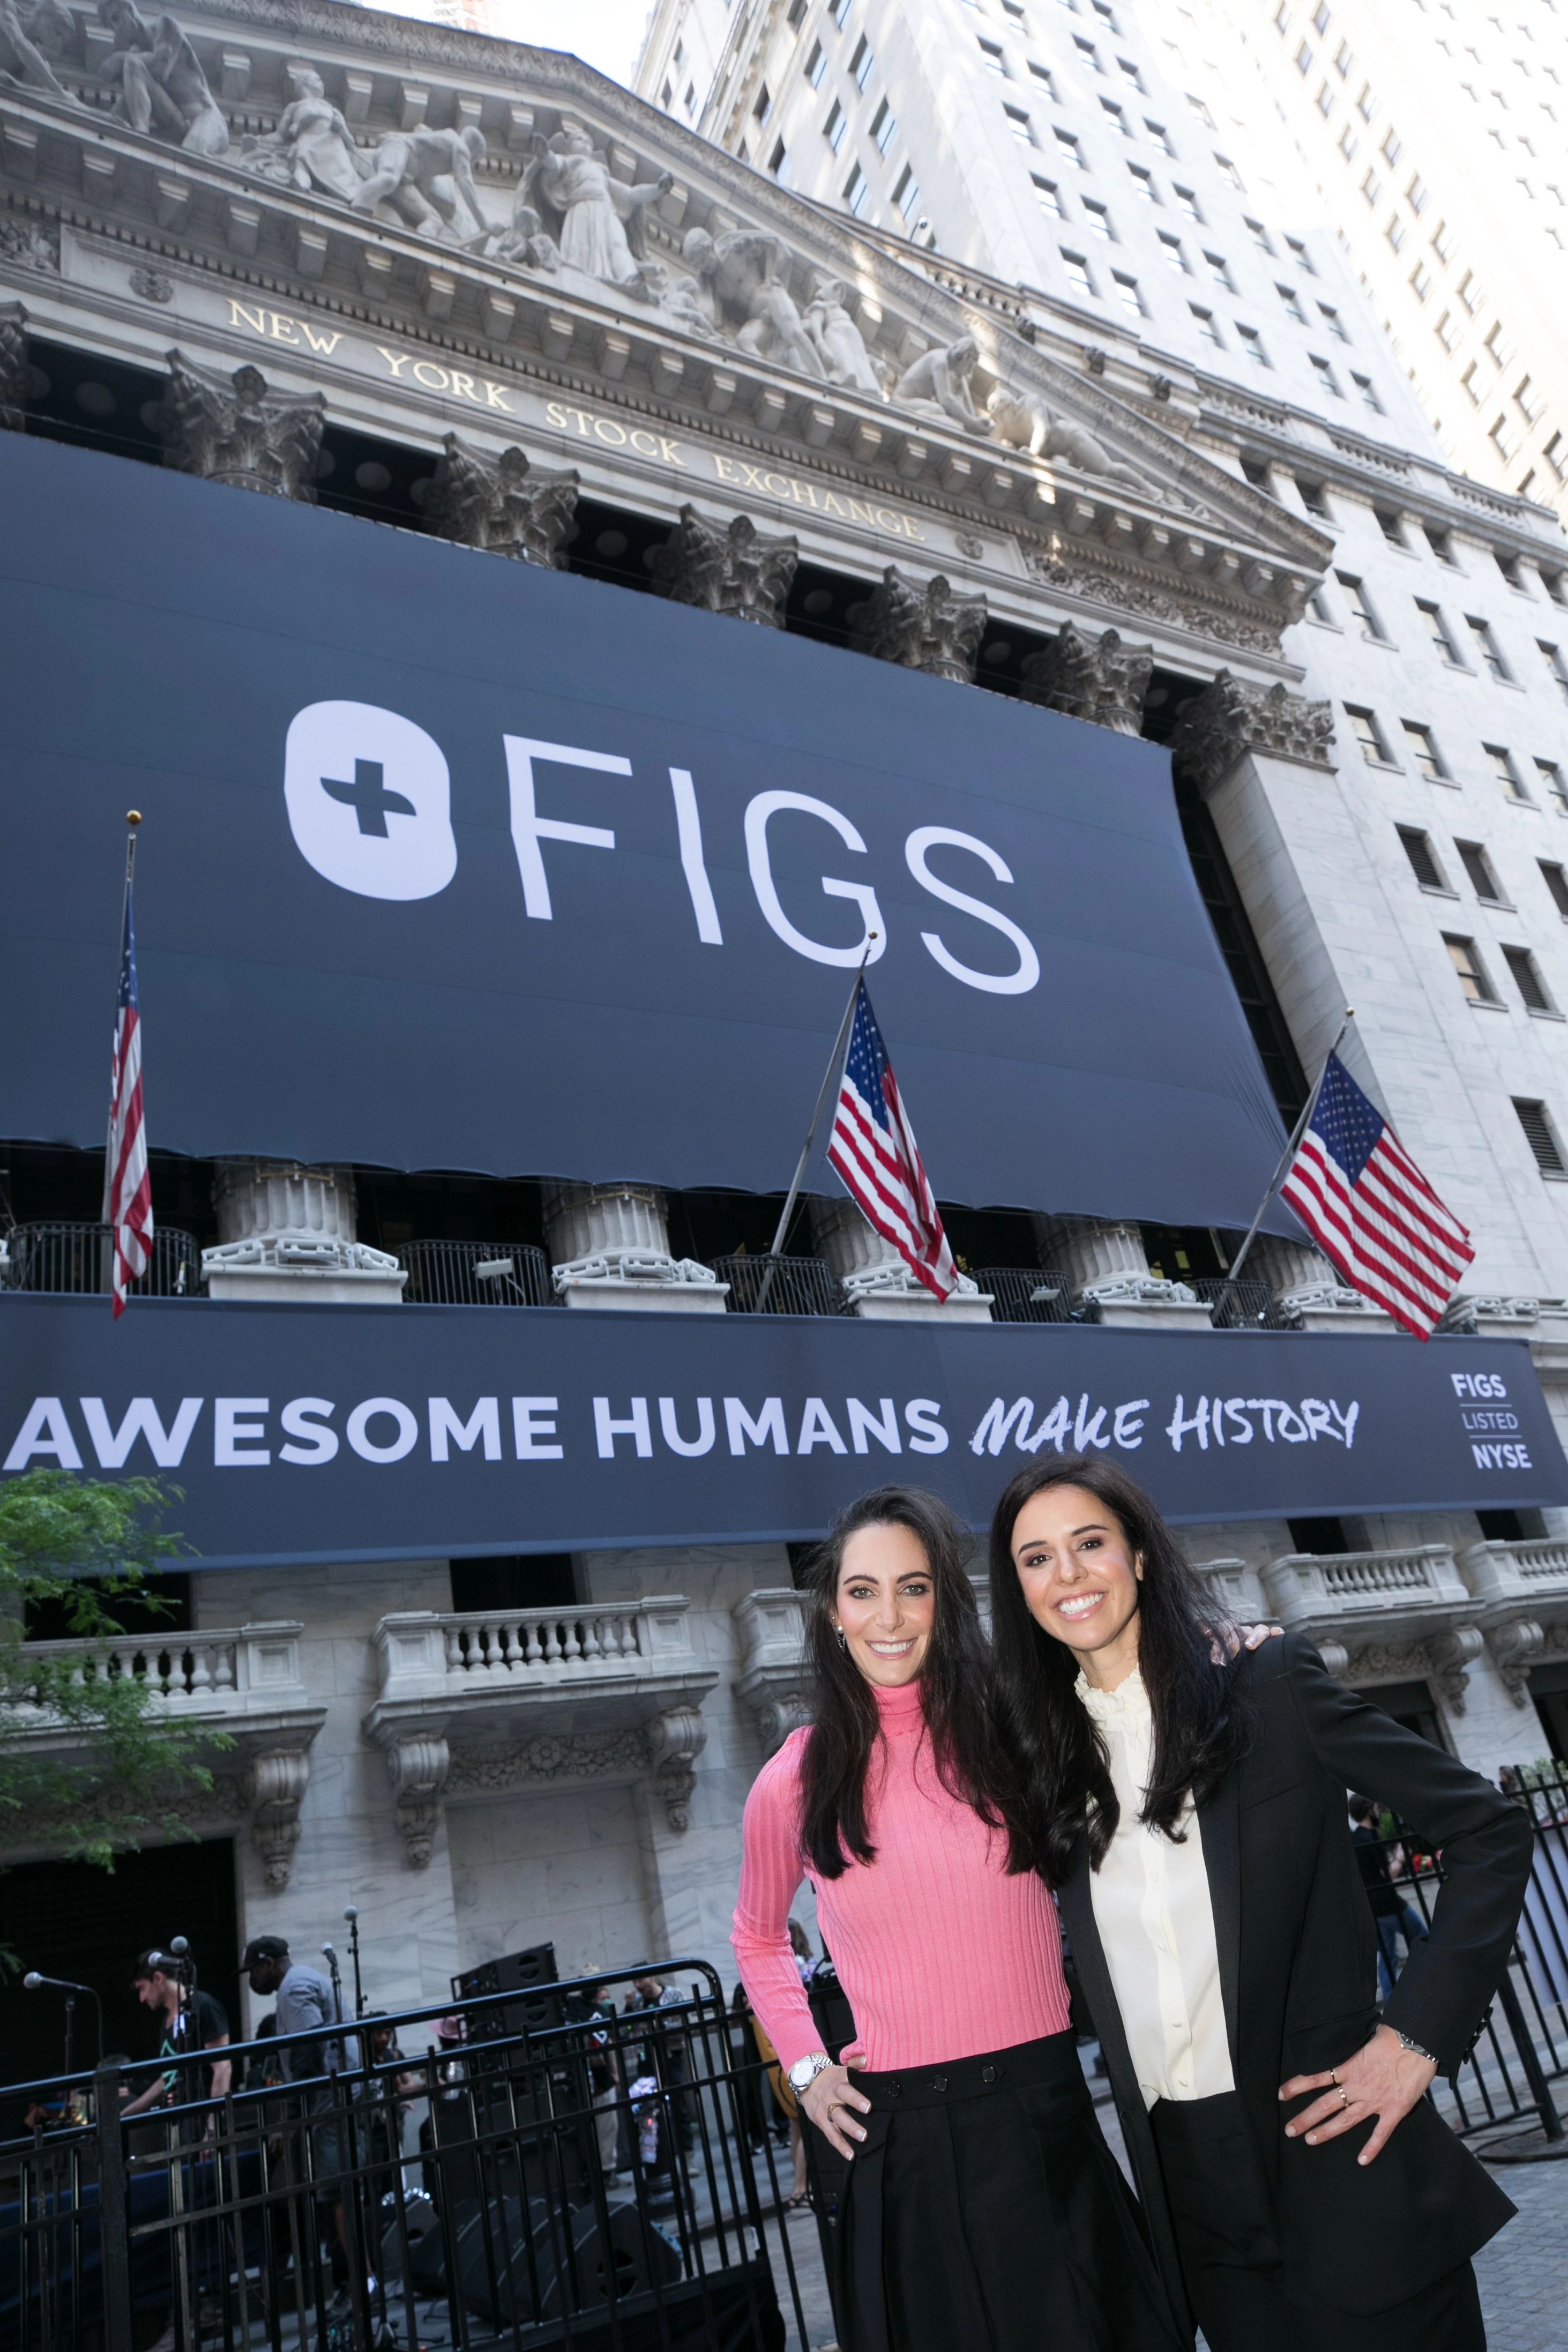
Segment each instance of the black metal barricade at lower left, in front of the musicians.
[{"label": "black metal barricade at lower left, in front of the musicians", "polygon": [[[691,1990],[621,2013],[599,1990],[646,1976]],[[416,2009],[374,2044],[362,2025],[223,2051],[223,2098],[207,2051],[9,2091],[28,2131],[0,2140],[7,2352],[160,2331],[181,2352],[809,2352],[766,2070],[705,1962],[442,2016],[468,2039],[435,2046]],[[160,2070],[169,2103],[127,2131]]]}]

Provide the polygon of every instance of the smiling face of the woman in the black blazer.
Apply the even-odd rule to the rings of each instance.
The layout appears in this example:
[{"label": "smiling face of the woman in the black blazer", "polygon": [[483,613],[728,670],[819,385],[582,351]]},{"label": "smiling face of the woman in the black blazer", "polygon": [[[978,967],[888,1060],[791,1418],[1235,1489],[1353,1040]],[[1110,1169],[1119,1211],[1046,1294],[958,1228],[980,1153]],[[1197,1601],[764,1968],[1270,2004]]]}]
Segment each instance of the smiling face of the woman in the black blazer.
[{"label": "smiling face of the woman in the black blazer", "polygon": [[1138,1665],[1133,1552],[1114,1510],[1086,1486],[1044,1486],[1013,1522],[1013,1566],[1030,1616],[1077,1651],[1086,1682],[1114,1691]]}]

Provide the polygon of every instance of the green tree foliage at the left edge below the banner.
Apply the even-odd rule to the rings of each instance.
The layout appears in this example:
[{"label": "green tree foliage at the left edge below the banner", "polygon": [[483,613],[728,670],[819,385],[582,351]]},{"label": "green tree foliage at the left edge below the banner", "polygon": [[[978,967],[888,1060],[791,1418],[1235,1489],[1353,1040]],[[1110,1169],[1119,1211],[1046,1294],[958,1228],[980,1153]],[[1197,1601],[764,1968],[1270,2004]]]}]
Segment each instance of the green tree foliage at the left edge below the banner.
[{"label": "green tree foliage at the left edge below the banner", "polygon": [[[169,1613],[158,1571],[181,1557],[162,1534],[158,1479],[28,1470],[0,1482],[0,1846],[47,1844],[113,1870],[148,1832],[190,1837],[181,1797],[212,1788],[205,1762],[233,1740],[172,1722],[158,1651],[179,1632],[125,1635],[118,1609]],[[47,1611],[63,1642],[28,1642]]]}]

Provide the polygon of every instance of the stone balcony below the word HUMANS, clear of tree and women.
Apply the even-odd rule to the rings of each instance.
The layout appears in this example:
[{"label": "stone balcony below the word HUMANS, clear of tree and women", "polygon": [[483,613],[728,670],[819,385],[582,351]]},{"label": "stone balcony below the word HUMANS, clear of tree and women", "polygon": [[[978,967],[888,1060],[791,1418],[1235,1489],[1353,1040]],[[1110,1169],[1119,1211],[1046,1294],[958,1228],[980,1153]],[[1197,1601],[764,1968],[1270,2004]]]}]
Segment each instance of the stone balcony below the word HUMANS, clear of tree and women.
[{"label": "stone balcony below the word HUMANS, clear of tree and women", "polygon": [[689,1820],[701,1705],[717,1684],[689,1602],[386,1616],[364,1736],[383,1750],[411,1867],[430,1860],[447,1799],[583,1783],[649,1783]]}]

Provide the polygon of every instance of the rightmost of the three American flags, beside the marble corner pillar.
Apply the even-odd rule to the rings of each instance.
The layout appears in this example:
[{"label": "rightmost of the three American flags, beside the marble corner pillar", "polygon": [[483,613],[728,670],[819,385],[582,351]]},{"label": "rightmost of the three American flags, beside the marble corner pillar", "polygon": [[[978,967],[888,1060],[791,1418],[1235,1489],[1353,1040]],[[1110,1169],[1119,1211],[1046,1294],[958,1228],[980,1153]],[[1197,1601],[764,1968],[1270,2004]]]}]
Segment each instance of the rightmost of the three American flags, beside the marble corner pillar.
[{"label": "rightmost of the three American flags, beside the marble corner pillar", "polygon": [[1338,1054],[1324,1065],[1279,1197],[1338,1270],[1418,1338],[1432,1338],[1474,1258],[1460,1225]]}]

